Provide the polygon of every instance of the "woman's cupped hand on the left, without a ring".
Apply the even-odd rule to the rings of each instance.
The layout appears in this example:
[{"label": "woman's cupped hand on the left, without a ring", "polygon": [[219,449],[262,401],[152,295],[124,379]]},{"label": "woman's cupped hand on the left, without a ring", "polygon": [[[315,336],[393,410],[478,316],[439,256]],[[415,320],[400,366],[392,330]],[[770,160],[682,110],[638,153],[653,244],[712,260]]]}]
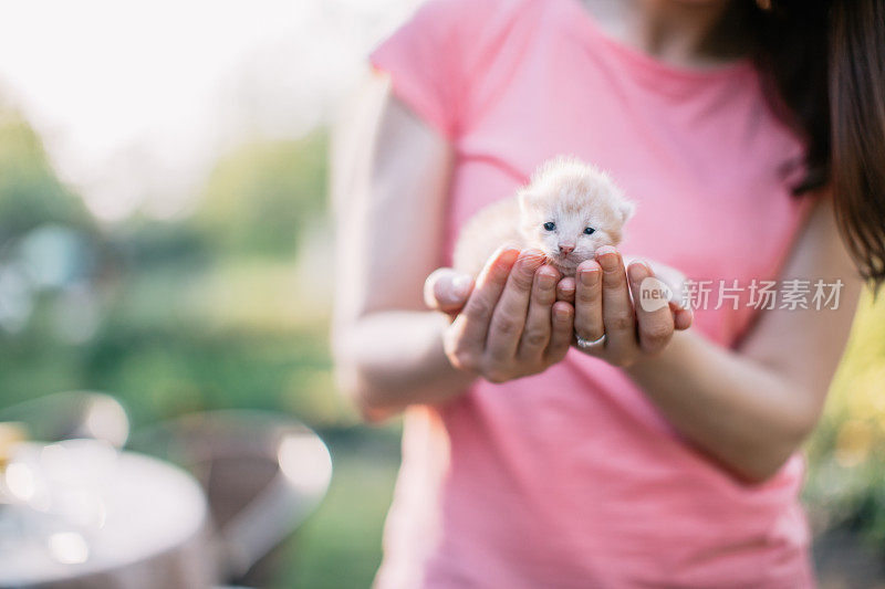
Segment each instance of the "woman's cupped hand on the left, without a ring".
[{"label": "woman's cupped hand on the left, without a ring", "polygon": [[542,372],[565,357],[574,307],[556,301],[560,274],[543,261],[538,250],[503,248],[475,285],[450,269],[427,278],[428,306],[454,317],[444,335],[452,366],[503,382]]}]

